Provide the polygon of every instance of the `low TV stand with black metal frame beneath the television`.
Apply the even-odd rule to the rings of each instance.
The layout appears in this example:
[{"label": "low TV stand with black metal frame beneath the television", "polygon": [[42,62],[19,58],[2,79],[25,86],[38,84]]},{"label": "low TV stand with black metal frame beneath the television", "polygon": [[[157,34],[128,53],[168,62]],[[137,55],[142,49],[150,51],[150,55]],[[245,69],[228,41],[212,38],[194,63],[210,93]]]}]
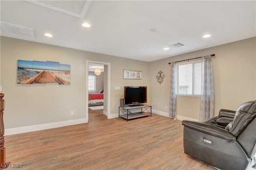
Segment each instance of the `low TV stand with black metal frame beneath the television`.
[{"label": "low TV stand with black metal frame beneath the television", "polygon": [[[138,109],[136,112],[131,112],[132,109]],[[119,106],[118,110],[119,117],[127,120],[130,119],[136,119],[136,118],[141,118],[141,117],[147,117],[150,116],[152,117],[151,113],[151,105],[142,105],[142,106],[126,106],[126,107],[121,107]]]}]

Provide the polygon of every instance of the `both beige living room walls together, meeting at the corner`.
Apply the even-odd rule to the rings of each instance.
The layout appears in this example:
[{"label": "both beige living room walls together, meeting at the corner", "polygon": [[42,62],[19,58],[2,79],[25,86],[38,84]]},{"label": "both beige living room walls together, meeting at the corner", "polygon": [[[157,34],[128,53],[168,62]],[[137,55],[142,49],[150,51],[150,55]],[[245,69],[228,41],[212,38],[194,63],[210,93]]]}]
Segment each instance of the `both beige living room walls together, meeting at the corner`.
[{"label": "both beige living room walls together, meeting at the corner", "polygon": [[[215,115],[218,110],[236,109],[245,101],[256,99],[256,38],[228,43],[144,62],[54,45],[1,37],[0,85],[5,94],[5,128],[26,127],[75,119],[86,119],[86,60],[111,63],[110,114],[118,114],[124,86],[147,86],[148,104],[168,113],[170,68],[168,62],[216,54],[212,59],[215,79]],[[16,83],[17,60],[58,61],[71,65],[70,85]],[[123,69],[142,71],[142,80],[123,79]],[[165,78],[160,85],[158,71]],[[120,90],[115,90],[120,87]],[[165,109],[167,106],[167,109]],[[177,96],[177,115],[198,119],[200,97]],[[70,115],[74,111],[74,115]]]}]

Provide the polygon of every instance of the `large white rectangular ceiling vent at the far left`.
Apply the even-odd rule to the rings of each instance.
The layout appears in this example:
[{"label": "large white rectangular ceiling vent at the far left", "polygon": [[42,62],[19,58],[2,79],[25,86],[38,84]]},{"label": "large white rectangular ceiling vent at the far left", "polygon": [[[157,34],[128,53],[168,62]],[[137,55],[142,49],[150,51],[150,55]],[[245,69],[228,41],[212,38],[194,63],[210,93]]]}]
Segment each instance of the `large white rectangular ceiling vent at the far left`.
[{"label": "large white rectangular ceiling vent at the far left", "polygon": [[18,34],[21,36],[28,36],[31,38],[36,38],[34,29],[32,29],[32,28],[26,28],[26,27],[17,26],[14,24],[8,24],[5,22],[1,22],[1,29],[4,32],[10,32],[12,34]]}]

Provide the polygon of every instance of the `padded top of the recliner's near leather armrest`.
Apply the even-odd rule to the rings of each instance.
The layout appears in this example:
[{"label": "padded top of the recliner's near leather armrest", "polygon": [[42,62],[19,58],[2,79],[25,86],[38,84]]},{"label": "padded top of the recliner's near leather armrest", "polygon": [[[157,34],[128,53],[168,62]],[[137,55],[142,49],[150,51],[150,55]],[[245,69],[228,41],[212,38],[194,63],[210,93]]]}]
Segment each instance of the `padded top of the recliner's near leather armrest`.
[{"label": "padded top of the recliner's near leather armrest", "polygon": [[206,134],[210,134],[219,138],[223,138],[225,140],[236,141],[236,136],[231,134],[228,130],[208,123],[184,120],[182,121],[182,125],[184,127],[192,128],[194,130],[204,132]]}]

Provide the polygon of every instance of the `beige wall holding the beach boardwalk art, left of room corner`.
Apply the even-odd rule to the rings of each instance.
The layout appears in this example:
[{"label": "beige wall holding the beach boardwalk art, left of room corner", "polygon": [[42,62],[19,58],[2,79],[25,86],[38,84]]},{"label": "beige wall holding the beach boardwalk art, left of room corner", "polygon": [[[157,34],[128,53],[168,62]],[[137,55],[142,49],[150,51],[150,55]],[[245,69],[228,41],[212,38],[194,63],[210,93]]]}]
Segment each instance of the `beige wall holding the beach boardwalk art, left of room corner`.
[{"label": "beige wall holding the beach boardwalk art, left of room corner", "polygon": [[[70,85],[17,84],[18,59],[70,64]],[[1,37],[0,86],[6,101],[5,128],[86,119],[86,60],[111,63],[110,114],[118,114],[124,86],[146,86],[149,81],[148,62]],[[124,80],[123,69],[140,70],[145,74],[142,80]],[[115,90],[116,86],[121,87],[120,90]],[[74,111],[73,116],[70,111]]]}]

